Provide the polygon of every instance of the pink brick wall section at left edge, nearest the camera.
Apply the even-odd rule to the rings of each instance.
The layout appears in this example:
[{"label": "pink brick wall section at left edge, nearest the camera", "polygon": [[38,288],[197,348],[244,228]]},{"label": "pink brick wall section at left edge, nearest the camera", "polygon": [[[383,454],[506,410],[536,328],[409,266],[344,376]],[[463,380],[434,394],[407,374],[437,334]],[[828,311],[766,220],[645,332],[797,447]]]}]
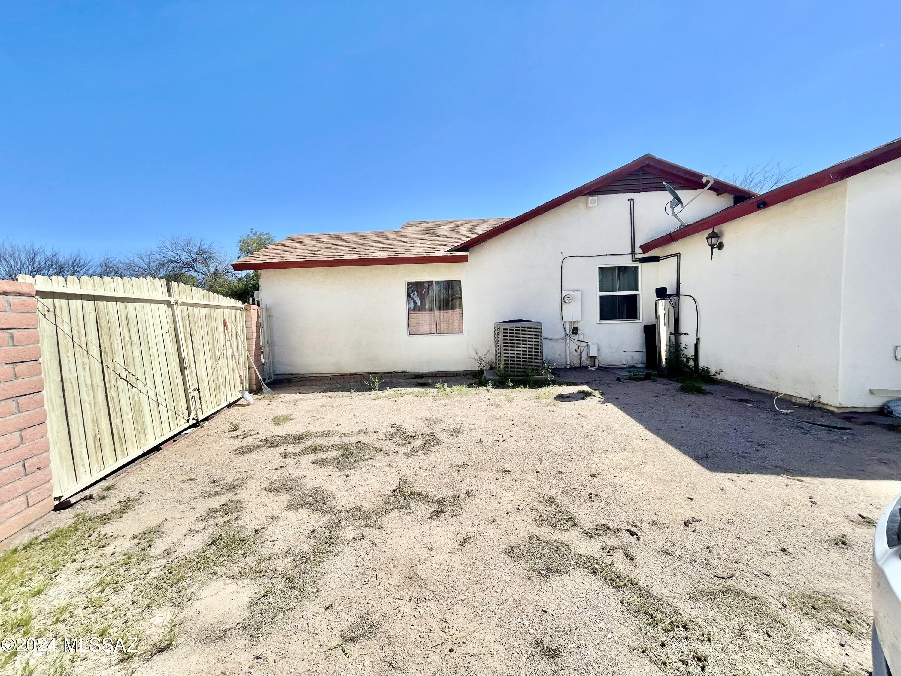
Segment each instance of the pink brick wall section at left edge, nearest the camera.
[{"label": "pink brick wall section at left edge, nearest the camera", "polygon": [[0,280],[0,542],[53,508],[34,287]]}]

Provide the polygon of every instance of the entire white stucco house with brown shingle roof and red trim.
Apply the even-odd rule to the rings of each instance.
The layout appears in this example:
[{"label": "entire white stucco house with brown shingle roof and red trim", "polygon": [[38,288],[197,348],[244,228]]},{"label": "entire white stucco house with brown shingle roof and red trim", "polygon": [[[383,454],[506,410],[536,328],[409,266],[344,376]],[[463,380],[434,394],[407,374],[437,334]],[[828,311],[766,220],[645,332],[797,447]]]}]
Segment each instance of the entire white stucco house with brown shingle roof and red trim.
[{"label": "entire white stucco house with brown shingle roof and red trim", "polygon": [[[687,224],[664,181],[696,197]],[[697,327],[721,378],[838,409],[901,396],[901,139],[762,195],[645,155],[513,218],[299,234],[233,267],[260,272],[278,374],[476,370],[514,318],[553,365],[642,365],[678,282],[679,340]]]}]

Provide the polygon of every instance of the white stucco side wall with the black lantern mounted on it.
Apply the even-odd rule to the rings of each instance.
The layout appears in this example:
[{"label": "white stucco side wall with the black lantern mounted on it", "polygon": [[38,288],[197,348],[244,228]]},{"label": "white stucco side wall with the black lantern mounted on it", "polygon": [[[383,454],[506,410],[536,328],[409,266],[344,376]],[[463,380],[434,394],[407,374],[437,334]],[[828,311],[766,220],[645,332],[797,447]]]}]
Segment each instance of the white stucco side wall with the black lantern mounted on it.
[{"label": "white stucco side wall with the black lantern mounted on it", "polygon": [[[717,227],[723,251],[697,233],[682,252],[682,292],[700,309],[701,363],[722,378],[839,405],[839,331],[847,181]],[[667,279],[669,290],[675,279]],[[694,333],[690,299],[681,331]],[[692,351],[693,335],[683,339]]]}]

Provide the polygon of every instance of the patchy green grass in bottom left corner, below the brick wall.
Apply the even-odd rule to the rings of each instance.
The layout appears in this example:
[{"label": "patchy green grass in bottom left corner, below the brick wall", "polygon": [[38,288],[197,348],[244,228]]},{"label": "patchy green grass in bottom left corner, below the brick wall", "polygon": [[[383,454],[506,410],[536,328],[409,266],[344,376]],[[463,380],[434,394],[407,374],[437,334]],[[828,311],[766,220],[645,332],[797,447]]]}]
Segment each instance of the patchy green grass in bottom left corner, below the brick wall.
[{"label": "patchy green grass in bottom left corner, below the brick wall", "polygon": [[[175,642],[174,623],[164,627],[156,641],[147,639],[148,611],[156,606],[156,599],[141,596],[144,589],[157,588],[159,578],[167,575],[164,565],[159,576],[154,576],[156,557],[150,555],[165,520],[133,535],[131,546],[124,549],[117,549],[115,538],[104,532],[106,525],[131,511],[135,503],[134,499],[123,500],[103,514],[82,512],[68,525],[0,555],[0,616],[5,636],[138,639],[138,653],[105,656],[102,659],[107,666],[113,663],[111,660],[150,659]],[[62,598],[77,598],[77,602],[60,603],[58,585],[65,585]],[[184,584],[177,589],[185,589]],[[143,602],[134,603],[134,595],[141,596]],[[47,656],[40,662],[7,653],[0,669],[7,671],[18,665],[16,671],[21,674],[65,674],[81,670],[88,656],[92,669],[103,669],[96,655],[72,652]]]}]

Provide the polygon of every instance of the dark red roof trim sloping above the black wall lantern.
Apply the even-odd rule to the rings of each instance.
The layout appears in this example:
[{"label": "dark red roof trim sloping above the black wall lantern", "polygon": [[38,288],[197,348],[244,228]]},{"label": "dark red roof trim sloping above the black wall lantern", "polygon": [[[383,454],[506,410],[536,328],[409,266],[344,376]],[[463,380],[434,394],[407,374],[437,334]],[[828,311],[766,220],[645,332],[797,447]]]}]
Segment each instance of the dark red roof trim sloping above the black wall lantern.
[{"label": "dark red roof trim sloping above the black wall lantern", "polygon": [[[653,251],[654,249],[660,248],[664,244],[684,240],[686,237],[690,237],[693,234],[703,233],[707,230],[713,229],[717,225],[729,223],[730,221],[734,221],[736,218],[751,215],[755,212],[760,211],[761,209],[768,208],[769,206],[778,205],[782,202],[786,202],[789,199],[794,199],[795,197],[813,192],[814,190],[817,190],[821,187],[826,187],[832,185],[833,183],[838,183],[845,178],[851,178],[852,176],[867,171],[868,169],[874,169],[881,164],[885,164],[886,162],[890,162],[891,160],[897,160],[898,158],[901,158],[901,139],[896,139],[895,141],[888,142],[885,145],[881,145],[871,151],[864,152],[857,157],[852,157],[850,160],[844,160],[842,162],[839,162],[838,164],[833,164],[832,167],[823,169],[822,171],[817,171],[815,174],[811,174],[810,176],[798,178],[796,181],[787,183],[784,186],[773,188],[768,193],[758,195],[752,199],[749,199],[747,202],[742,202],[742,204],[730,206],[728,208],[725,208],[723,211],[717,212],[714,215],[709,215],[706,218],[702,218],[696,223],[687,225],[683,228],[679,228],[678,230],[675,230],[669,234],[665,234],[662,237],[658,237],[656,240],[645,242],[641,247],[642,252],[647,253],[648,251]],[[764,202],[765,206],[758,208],[757,205],[760,202]]]}]

